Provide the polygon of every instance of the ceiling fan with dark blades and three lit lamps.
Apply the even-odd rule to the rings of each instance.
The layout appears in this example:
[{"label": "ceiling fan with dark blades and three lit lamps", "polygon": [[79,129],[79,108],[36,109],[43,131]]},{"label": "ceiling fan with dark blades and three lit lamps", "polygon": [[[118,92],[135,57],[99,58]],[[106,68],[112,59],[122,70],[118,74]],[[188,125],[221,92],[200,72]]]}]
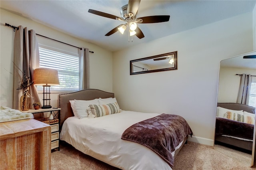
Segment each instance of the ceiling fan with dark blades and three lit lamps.
[{"label": "ceiling fan with dark blades and three lit lamps", "polygon": [[129,27],[129,35],[130,36],[136,35],[139,39],[144,38],[144,34],[140,30],[140,28],[138,28],[137,23],[149,24],[149,23],[158,23],[158,22],[168,22],[170,19],[169,15],[145,16],[145,17],[136,18],[139,5],[140,5],[140,0],[129,0],[128,5],[124,5],[120,9],[120,13],[122,17],[114,16],[112,14],[107,14],[104,12],[91,10],[91,9],[89,9],[88,12],[95,15],[103,16],[106,18],[111,18],[114,20],[120,20],[125,22],[125,24],[121,24],[116,28],[112,29],[105,36],[110,36],[117,31],[119,31],[121,34],[124,34],[124,31],[126,30],[126,28]]}]

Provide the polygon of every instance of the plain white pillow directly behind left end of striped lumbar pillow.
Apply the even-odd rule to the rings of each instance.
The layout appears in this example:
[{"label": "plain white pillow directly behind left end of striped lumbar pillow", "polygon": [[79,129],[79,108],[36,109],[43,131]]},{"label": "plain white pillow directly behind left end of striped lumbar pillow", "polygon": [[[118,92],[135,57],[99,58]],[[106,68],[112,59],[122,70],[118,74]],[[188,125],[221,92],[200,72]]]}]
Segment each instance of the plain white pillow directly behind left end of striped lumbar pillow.
[{"label": "plain white pillow directly behind left end of striped lumbar pillow", "polygon": [[[83,119],[85,117],[88,117],[88,111],[87,108],[89,105],[99,105],[98,99],[93,100],[74,100],[74,107],[76,115],[79,119]],[[74,112],[74,111],[73,111]]]}]

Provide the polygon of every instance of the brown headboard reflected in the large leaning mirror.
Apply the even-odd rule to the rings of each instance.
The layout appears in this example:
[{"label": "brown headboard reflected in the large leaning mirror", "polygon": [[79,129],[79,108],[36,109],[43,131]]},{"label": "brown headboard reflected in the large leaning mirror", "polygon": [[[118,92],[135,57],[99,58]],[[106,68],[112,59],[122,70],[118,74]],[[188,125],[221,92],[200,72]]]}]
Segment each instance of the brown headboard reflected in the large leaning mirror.
[{"label": "brown headboard reflected in the large leaning mirror", "polygon": [[243,111],[255,114],[255,107],[240,104],[240,103],[217,103],[217,107],[218,106],[226,109],[236,110],[236,111],[243,110]]}]

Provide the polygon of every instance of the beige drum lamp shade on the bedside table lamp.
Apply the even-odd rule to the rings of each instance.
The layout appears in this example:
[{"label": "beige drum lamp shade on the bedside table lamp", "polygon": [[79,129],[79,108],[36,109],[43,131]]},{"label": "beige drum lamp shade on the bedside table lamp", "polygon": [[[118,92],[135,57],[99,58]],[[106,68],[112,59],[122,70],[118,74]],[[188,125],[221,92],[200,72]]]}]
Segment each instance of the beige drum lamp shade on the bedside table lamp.
[{"label": "beige drum lamp shade on the bedside table lamp", "polygon": [[59,85],[58,70],[40,68],[34,70],[34,85]]}]

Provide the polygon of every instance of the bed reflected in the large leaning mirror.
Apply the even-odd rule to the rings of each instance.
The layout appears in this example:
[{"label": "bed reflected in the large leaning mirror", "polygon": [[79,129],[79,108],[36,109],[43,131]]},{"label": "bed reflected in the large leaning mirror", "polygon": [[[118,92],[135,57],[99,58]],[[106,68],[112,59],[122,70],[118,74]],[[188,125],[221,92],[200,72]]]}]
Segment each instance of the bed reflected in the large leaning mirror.
[{"label": "bed reflected in the large leaning mirror", "polygon": [[[223,109],[224,108],[224,109]],[[228,113],[228,111],[238,113],[232,116],[232,119],[239,119],[237,115],[243,114],[242,119],[244,122],[245,116],[248,119],[252,119],[249,123],[244,123],[242,121],[230,120],[223,118],[221,115],[223,112]],[[230,110],[225,110],[230,109]],[[220,115],[218,115],[218,112]],[[253,120],[254,119],[254,120]],[[243,150],[252,151],[253,133],[254,133],[254,121],[255,121],[255,107],[240,103],[217,103],[217,117],[216,117],[216,127],[215,127],[215,144],[225,145],[225,146],[235,146],[242,148]]]}]

